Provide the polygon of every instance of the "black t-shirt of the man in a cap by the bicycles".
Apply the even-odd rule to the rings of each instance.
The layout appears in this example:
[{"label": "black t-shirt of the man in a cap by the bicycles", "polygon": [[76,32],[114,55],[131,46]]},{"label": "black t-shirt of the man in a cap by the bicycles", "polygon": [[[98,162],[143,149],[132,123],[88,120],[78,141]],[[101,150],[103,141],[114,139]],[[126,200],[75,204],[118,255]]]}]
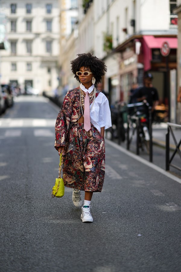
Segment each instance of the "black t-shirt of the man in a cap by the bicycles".
[{"label": "black t-shirt of the man in a cap by the bicycles", "polygon": [[154,87],[147,88],[144,86],[136,92],[137,98],[141,98],[142,96],[145,96],[149,105],[152,106],[153,102],[158,100],[158,91]]}]

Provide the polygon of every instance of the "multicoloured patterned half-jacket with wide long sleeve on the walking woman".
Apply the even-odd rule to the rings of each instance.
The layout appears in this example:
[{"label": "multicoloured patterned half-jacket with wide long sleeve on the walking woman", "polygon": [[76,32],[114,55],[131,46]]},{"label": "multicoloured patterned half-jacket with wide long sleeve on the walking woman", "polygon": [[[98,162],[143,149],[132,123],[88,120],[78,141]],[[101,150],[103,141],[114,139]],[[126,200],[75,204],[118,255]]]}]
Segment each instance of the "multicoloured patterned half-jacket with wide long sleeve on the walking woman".
[{"label": "multicoloured patterned half-jacket with wide long sleeve on the walking woman", "polygon": [[[98,96],[99,92],[99,90],[96,90],[96,97]],[[78,87],[67,92],[62,108],[57,116],[55,125],[56,150],[58,150],[59,146],[65,145],[70,122],[78,121],[78,118],[80,118],[82,115],[81,112],[79,113],[79,111],[80,93]]]}]

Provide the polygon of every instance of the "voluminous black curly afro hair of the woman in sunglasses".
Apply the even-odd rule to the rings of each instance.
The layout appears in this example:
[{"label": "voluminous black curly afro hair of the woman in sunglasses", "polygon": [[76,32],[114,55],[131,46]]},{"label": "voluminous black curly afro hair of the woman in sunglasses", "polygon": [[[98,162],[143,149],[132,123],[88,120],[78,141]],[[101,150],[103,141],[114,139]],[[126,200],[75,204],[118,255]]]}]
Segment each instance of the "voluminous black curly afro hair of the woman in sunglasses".
[{"label": "voluminous black curly afro hair of the woman in sunglasses", "polygon": [[96,84],[99,83],[107,71],[105,63],[91,53],[78,54],[77,56],[75,60],[71,61],[71,70],[75,75],[74,77],[79,81],[76,72],[83,66],[90,69],[96,79]]}]

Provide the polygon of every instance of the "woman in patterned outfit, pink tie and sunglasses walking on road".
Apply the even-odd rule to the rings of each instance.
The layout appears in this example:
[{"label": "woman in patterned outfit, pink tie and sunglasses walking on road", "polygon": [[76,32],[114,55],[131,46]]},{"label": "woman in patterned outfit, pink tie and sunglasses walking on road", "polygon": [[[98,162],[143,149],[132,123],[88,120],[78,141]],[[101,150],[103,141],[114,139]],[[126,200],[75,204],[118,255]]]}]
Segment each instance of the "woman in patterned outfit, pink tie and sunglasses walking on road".
[{"label": "woman in patterned outfit, pink tie and sunglasses walking on road", "polygon": [[94,192],[101,192],[105,174],[104,129],[111,126],[109,102],[95,83],[106,73],[103,61],[92,54],[78,54],[71,71],[79,81],[69,90],[56,119],[55,148],[63,155],[63,180],[73,189],[75,206],[82,205],[82,222],[93,222],[90,203]]}]

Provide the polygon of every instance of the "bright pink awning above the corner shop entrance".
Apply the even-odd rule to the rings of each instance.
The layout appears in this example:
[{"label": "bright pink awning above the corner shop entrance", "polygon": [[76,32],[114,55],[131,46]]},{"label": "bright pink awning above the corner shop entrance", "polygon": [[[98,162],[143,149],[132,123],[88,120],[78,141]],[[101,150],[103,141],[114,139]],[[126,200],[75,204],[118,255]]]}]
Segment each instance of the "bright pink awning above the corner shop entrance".
[{"label": "bright pink awning above the corner shop entrance", "polygon": [[151,69],[152,60],[152,48],[160,49],[162,44],[167,41],[171,49],[178,48],[178,39],[175,37],[154,37],[154,36],[143,36],[143,52],[144,52],[144,70],[148,71]]}]

